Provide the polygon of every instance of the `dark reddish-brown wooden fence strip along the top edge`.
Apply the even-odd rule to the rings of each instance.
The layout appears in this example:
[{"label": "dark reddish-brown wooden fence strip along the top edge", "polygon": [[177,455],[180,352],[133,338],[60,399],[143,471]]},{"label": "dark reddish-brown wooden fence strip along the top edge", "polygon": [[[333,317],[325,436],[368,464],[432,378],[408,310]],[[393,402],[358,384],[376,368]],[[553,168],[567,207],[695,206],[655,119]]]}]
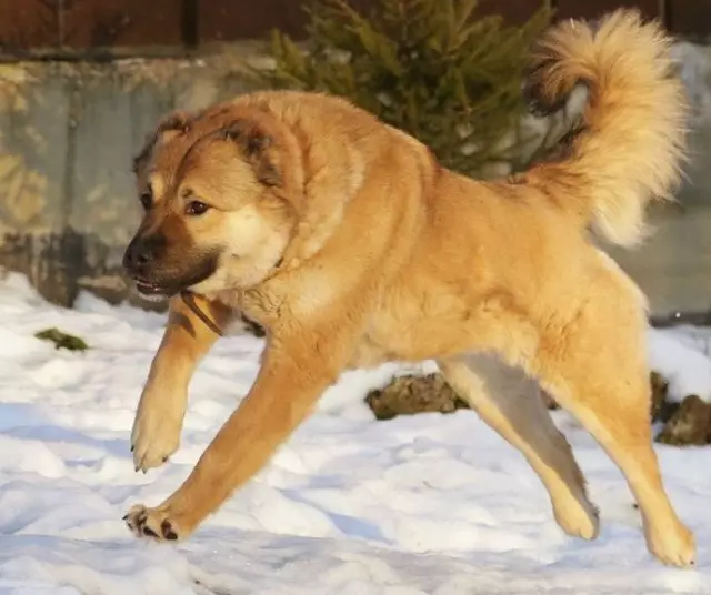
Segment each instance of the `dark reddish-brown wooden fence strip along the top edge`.
[{"label": "dark reddish-brown wooden fence strip along the top edge", "polygon": [[[407,1],[407,0],[405,0]],[[480,0],[481,13],[509,22],[543,0]],[[368,8],[374,0],[350,0]],[[711,0],[553,0],[555,18],[594,17],[637,6],[680,37],[711,34]],[[212,42],[263,38],[278,27],[303,33],[301,0],[0,0],[0,57],[101,58],[180,53]]]}]

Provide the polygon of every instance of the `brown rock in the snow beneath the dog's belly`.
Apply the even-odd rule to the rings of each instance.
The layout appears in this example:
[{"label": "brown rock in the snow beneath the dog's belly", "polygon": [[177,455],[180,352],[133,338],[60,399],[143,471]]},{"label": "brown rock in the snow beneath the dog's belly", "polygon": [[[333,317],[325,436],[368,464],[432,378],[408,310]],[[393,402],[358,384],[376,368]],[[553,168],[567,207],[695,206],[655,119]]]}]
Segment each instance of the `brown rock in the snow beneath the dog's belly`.
[{"label": "brown rock in the snow beneath the dog's belly", "polygon": [[468,407],[441,374],[397,376],[385,387],[370,391],[365,403],[378,420],[424,412],[452,413]]}]

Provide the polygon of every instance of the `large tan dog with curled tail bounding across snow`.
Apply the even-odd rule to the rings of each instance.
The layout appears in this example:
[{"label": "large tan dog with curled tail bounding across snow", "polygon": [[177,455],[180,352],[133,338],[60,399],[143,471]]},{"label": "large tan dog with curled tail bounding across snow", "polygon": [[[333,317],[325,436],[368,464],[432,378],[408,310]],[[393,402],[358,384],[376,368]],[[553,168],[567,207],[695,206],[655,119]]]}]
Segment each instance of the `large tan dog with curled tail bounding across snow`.
[{"label": "large tan dog with curled tail bounding across snow", "polygon": [[[678,179],[685,108],[670,41],[635,12],[552,28],[527,92],[543,111],[584,81],[564,154],[483,183],[411,137],[321,94],[258,92],[174,114],[137,158],[146,216],[126,253],[143,293],[189,290],[213,324],[267,329],[261,370],[184,484],[134,506],[137,535],[184,538],[270,458],[349,367],[435,359],[528,458],[570,535],[598,514],[535,384],[624,473],[662,562],[694,562],[651,447],[645,301],[588,238],[632,244]],[[452,132],[453,133],[453,132]],[[141,396],[137,468],[179,444],[188,383],[218,339],[180,298]]]}]

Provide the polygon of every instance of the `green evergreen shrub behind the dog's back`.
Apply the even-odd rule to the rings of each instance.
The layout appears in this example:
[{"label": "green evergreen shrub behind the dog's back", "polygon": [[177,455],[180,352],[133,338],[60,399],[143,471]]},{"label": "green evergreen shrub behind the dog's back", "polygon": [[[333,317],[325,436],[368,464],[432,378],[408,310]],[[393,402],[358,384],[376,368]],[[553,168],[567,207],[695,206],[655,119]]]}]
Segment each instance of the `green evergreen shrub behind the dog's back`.
[{"label": "green evergreen shrub behind the dog's back", "polygon": [[481,175],[527,142],[510,139],[525,113],[525,54],[550,9],[521,27],[475,9],[477,0],[379,0],[364,14],[344,0],[316,0],[307,47],[274,31],[276,67],[261,77],[276,88],[349,98],[428,144],[447,167]]}]

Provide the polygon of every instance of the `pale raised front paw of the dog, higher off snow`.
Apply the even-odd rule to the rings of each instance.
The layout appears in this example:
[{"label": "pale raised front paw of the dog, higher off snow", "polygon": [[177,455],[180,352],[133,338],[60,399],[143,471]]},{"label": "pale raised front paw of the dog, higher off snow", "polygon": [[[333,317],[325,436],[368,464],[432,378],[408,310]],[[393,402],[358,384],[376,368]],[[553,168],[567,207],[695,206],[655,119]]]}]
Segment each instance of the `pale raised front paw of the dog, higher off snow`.
[{"label": "pale raised front paw of the dog, higher off snow", "polygon": [[131,452],[136,471],[159,467],[180,446],[182,412],[164,407],[139,407],[131,432]]}]

